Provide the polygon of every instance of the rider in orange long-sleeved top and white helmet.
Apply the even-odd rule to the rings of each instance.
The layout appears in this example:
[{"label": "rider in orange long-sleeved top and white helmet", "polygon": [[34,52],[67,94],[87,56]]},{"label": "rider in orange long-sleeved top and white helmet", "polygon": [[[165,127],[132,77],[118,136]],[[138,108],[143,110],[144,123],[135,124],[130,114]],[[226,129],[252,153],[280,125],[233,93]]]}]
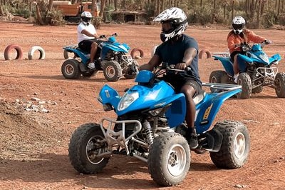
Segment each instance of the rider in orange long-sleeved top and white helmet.
[{"label": "rider in orange long-sleeved top and white helmet", "polygon": [[229,48],[229,54],[231,56],[232,61],[234,61],[233,69],[234,69],[234,82],[237,83],[237,77],[239,76],[239,66],[237,64],[237,55],[245,54],[242,51],[241,44],[246,42],[261,43],[266,41],[266,44],[270,44],[271,41],[264,39],[264,37],[258,36],[254,34],[253,31],[248,29],[244,29],[245,20],[242,16],[236,16],[232,20],[232,31],[229,32],[227,36],[227,46]]}]

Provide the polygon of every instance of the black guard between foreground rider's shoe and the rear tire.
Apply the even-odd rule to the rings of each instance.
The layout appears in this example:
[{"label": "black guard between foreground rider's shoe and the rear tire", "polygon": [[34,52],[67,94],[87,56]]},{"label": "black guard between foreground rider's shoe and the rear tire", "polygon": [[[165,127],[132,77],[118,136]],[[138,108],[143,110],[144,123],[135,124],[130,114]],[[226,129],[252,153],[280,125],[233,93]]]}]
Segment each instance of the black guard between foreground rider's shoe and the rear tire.
[{"label": "black guard between foreground rider's shoe and the rear tire", "polygon": [[202,144],[202,148],[207,151],[217,152],[222,146],[222,133],[217,129],[211,129],[206,133],[199,135],[198,139],[202,139],[199,144]]}]

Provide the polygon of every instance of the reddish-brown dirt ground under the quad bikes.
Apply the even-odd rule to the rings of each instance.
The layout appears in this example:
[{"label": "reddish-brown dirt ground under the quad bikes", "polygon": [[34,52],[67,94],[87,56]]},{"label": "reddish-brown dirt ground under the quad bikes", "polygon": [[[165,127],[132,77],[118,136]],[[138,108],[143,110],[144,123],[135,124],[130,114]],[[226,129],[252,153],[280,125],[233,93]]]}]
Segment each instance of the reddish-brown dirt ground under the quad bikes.
[{"label": "reddish-brown dirt ground under the quad bikes", "polygon": [[[123,94],[134,81],[111,83],[101,72],[90,79],[64,79],[62,47],[76,44],[76,26],[1,22],[0,29],[0,189],[285,189],[285,99],[277,98],[269,87],[251,99],[227,100],[217,114],[217,121],[242,121],[249,129],[251,150],[241,169],[217,169],[208,153],[191,152],[189,174],[175,187],[157,186],[147,164],[127,156],[113,156],[100,174],[79,174],[68,160],[71,134],[102,116],[115,118],[97,101],[103,84]],[[186,33],[197,39],[200,49],[222,52],[227,51],[228,31],[220,26],[190,26]],[[147,62],[152,47],[160,44],[160,26],[103,24],[98,29],[99,34],[114,32],[118,41],[142,49],[139,64]],[[255,32],[274,41],[265,51],[281,54],[278,69],[285,71],[285,31]],[[21,46],[24,59],[5,61],[9,44]],[[28,60],[31,46],[41,46],[46,58]],[[217,69],[222,69],[219,62],[205,56],[199,59],[202,81],[207,82]]]}]

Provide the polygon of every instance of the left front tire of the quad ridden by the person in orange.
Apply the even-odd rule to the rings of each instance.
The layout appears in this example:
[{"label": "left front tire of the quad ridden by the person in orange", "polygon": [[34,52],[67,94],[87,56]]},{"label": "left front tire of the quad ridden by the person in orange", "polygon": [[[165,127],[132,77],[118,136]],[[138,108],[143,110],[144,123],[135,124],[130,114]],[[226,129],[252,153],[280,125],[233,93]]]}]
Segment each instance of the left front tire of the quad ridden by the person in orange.
[{"label": "left front tire of the quad ridden by the person in orange", "polygon": [[252,95],[252,80],[249,74],[242,73],[239,74],[237,78],[237,84],[242,86],[242,91],[237,94],[238,99],[249,99]]}]

